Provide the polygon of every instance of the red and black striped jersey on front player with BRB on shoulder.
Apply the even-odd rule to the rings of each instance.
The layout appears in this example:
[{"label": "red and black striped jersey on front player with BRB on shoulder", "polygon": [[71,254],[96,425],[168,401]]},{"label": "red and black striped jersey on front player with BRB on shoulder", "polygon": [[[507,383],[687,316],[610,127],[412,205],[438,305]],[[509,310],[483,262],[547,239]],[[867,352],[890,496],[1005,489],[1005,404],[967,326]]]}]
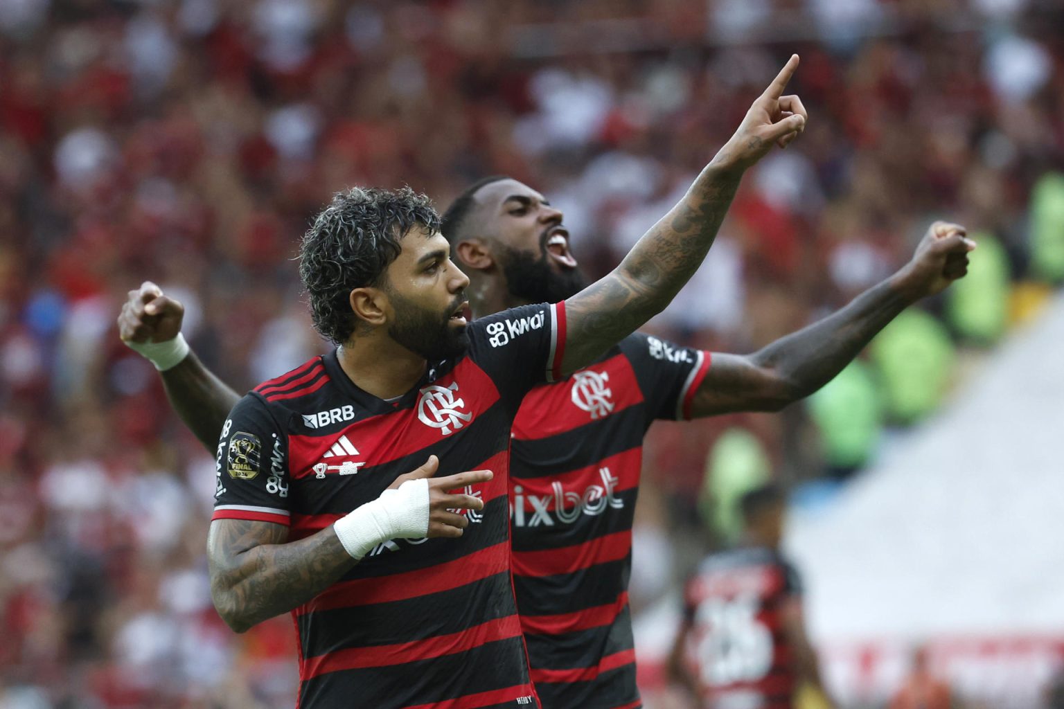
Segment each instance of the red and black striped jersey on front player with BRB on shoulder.
[{"label": "red and black striped jersey on front player with BRB on shoulder", "polygon": [[506,478],[521,398],[553,381],[564,304],[513,308],[468,325],[466,354],[430,362],[398,402],[359,389],[336,353],[260,385],[218,446],[213,519],[287,525],[295,541],[380,496],[439,457],[437,476],[489,469],[469,486],[459,539],[373,548],[293,615],[302,709],[529,709],[537,706],[511,581]]}]

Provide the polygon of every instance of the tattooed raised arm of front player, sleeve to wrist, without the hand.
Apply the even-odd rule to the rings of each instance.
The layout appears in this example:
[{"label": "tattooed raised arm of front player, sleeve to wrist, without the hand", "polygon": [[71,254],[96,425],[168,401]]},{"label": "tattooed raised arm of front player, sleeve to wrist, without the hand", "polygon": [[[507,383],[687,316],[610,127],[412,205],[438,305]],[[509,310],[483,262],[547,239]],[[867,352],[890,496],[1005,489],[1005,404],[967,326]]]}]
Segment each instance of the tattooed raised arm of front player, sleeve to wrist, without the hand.
[{"label": "tattooed raised arm of front player, sleeve to wrist, without the hand", "polygon": [[713,246],[739,178],[711,163],[612,273],[566,301],[565,371],[594,361],[665,309]]}]

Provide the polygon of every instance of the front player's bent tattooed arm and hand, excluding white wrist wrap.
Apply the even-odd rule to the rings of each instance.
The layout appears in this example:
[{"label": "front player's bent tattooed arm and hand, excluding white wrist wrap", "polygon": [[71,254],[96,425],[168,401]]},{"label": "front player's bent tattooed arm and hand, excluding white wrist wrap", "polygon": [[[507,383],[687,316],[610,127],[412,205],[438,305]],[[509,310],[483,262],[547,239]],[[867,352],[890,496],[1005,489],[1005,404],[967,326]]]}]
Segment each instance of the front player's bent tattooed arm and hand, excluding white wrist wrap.
[{"label": "front player's bent tattooed arm and hand, excluding white wrist wrap", "polygon": [[[420,518],[419,530],[386,535],[371,540],[371,544],[398,538],[462,536],[469,518],[453,510],[482,510],[484,503],[479,497],[451,494],[448,490],[485,483],[492,479],[492,473],[475,470],[432,477],[438,468],[439,460],[430,456],[423,466],[400,475],[388,486],[388,490],[397,490],[408,480],[426,480],[428,502],[425,514],[428,519]],[[389,502],[395,507],[394,499]],[[384,518],[394,520],[397,516],[397,510],[393,509]],[[379,531],[380,524],[375,524],[375,528]],[[352,556],[354,552],[340,541],[335,525],[289,542],[288,527],[283,524],[214,520],[211,522],[206,551],[214,606],[229,627],[237,632],[306,603],[359,563]]]}]

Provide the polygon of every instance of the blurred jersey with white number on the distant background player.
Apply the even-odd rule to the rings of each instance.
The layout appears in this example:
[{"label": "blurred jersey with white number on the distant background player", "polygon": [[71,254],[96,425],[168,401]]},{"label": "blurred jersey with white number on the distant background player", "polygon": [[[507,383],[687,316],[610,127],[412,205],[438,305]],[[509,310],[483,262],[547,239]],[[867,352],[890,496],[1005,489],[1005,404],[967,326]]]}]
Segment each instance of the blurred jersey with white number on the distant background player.
[{"label": "blurred jersey with white number on the distant background player", "polygon": [[782,608],[801,595],[793,565],[755,546],[709,556],[684,593],[689,659],[708,709],[792,709],[797,677]]}]

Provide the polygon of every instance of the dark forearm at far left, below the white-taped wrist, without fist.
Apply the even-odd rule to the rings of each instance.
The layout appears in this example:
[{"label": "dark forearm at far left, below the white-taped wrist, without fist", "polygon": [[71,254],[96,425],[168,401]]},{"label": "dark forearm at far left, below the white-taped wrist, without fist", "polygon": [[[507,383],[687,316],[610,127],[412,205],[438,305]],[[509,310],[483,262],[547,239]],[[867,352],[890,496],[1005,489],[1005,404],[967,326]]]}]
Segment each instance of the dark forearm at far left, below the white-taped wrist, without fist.
[{"label": "dark forearm at far left, below the white-taped wrist, without fist", "polygon": [[240,398],[204,367],[194,352],[163,372],[163,386],[170,406],[213,455],[226,417]]}]

